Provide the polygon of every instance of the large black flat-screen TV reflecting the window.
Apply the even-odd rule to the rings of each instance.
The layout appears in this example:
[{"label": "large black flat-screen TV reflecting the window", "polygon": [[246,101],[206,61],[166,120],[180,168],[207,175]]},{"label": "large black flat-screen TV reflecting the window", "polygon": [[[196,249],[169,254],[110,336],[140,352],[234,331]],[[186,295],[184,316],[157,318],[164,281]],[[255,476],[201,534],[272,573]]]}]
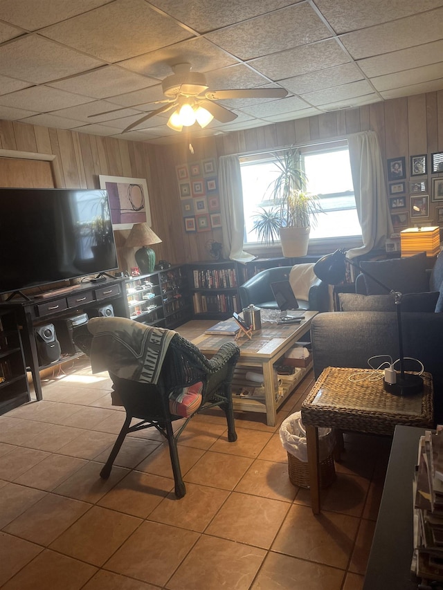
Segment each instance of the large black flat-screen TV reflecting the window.
[{"label": "large black flat-screen TV reflecting the window", "polygon": [[105,190],[0,188],[0,293],[116,268]]}]

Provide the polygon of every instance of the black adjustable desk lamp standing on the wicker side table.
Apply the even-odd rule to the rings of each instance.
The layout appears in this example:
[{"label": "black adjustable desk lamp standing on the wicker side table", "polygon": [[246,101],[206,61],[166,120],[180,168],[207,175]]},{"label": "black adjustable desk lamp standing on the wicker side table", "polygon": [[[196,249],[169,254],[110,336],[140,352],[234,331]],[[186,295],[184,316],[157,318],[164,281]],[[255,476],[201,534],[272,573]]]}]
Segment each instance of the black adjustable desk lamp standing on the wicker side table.
[{"label": "black adjustable desk lamp standing on the wicker side table", "polygon": [[404,353],[403,353],[403,334],[401,331],[401,298],[403,295],[399,293],[399,291],[393,291],[383,283],[381,283],[375,277],[372,277],[369,273],[363,270],[359,264],[356,262],[352,262],[350,259],[346,258],[345,250],[336,250],[332,254],[327,254],[320,258],[314,264],[314,273],[320,279],[329,285],[336,285],[345,279],[345,271],[346,266],[345,263],[348,262],[355,268],[366,275],[372,281],[376,282],[378,285],[386,289],[388,293],[391,293],[395,297],[395,309],[397,311],[397,326],[398,326],[398,333],[399,333],[399,360],[400,360],[400,374],[396,374],[395,383],[390,383],[386,381],[386,378],[383,378],[383,389],[388,391],[390,394],[395,394],[397,396],[407,396],[417,394],[419,391],[423,389],[423,379],[419,375],[411,375],[409,373],[405,373],[404,371]]}]

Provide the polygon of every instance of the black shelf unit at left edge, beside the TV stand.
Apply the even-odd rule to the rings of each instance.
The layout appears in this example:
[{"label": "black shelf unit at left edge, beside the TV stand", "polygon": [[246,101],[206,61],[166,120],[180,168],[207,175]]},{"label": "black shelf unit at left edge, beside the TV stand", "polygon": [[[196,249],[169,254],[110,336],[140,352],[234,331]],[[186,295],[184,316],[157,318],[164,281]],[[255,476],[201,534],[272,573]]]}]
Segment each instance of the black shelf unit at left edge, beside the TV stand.
[{"label": "black shelf unit at left edge, beside the TV stand", "polygon": [[19,326],[10,311],[0,311],[0,380],[0,414],[30,400]]}]

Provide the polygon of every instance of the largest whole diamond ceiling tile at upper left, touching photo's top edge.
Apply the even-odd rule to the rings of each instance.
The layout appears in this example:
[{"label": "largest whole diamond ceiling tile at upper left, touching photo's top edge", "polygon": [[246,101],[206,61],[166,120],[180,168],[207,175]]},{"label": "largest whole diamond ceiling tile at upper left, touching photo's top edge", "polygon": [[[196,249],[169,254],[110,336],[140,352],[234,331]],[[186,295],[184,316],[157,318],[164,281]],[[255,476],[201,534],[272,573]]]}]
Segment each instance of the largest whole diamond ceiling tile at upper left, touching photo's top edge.
[{"label": "largest whole diamond ceiling tile at upper left, touching photo's top edge", "polygon": [[111,63],[192,37],[192,33],[156,12],[144,0],[116,0],[41,33]]}]

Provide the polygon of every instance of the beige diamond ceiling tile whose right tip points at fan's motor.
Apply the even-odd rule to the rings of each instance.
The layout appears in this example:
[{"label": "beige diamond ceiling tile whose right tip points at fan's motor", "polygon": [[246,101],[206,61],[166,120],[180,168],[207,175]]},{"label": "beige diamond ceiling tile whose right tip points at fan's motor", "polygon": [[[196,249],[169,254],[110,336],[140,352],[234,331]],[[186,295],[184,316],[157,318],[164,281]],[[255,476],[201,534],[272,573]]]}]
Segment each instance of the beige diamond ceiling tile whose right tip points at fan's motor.
[{"label": "beige diamond ceiling tile whose right tip points at fan's motor", "polygon": [[152,78],[129,72],[117,66],[105,66],[99,70],[80,74],[67,80],[52,82],[48,86],[84,96],[91,96],[92,98],[107,98],[116,94],[146,88],[153,84],[158,84],[158,80],[152,80]]}]

